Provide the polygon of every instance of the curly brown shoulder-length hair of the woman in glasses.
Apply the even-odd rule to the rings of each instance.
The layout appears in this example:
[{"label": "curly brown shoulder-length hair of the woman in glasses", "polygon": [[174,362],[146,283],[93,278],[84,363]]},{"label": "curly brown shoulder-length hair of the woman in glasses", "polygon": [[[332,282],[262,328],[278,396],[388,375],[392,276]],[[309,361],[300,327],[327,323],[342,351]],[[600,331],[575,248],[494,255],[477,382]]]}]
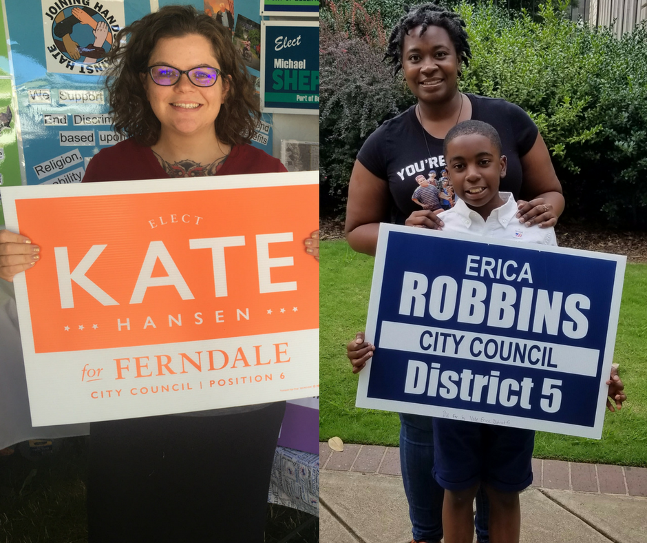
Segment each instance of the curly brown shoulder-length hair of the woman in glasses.
[{"label": "curly brown shoulder-length hair of the woman in glasses", "polygon": [[193,6],[165,6],[116,35],[107,54],[111,68],[105,81],[115,131],[147,147],[158,142],[162,126],[147,99],[142,74],[147,72],[160,38],[187,34],[199,34],[211,41],[221,76],[229,79],[229,91],[215,119],[215,134],[229,145],[250,143],[261,117],[251,78],[229,30]]}]

